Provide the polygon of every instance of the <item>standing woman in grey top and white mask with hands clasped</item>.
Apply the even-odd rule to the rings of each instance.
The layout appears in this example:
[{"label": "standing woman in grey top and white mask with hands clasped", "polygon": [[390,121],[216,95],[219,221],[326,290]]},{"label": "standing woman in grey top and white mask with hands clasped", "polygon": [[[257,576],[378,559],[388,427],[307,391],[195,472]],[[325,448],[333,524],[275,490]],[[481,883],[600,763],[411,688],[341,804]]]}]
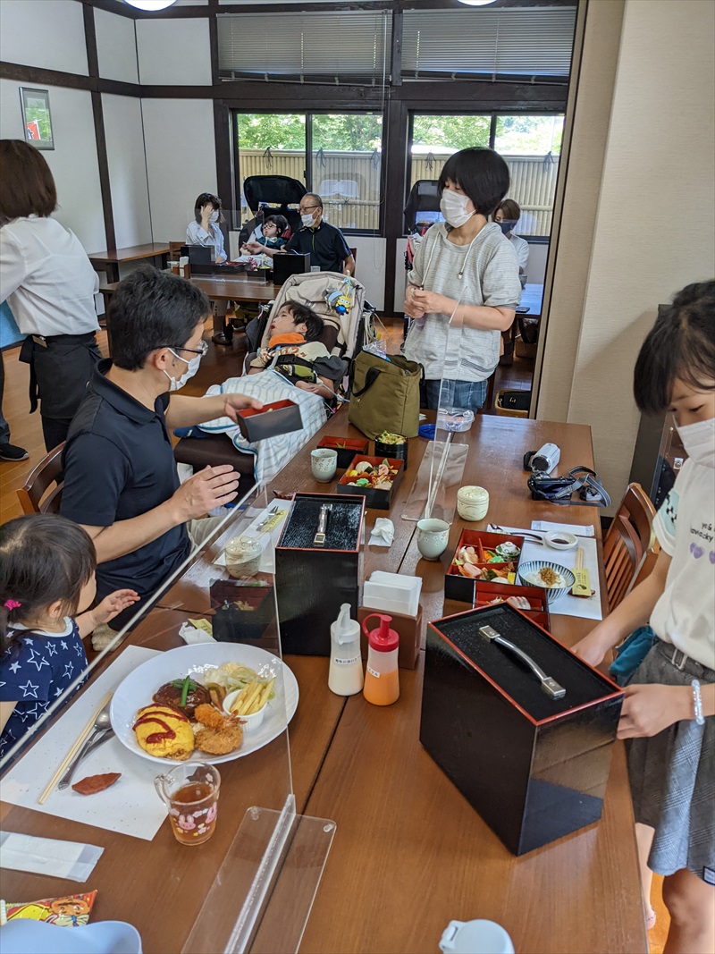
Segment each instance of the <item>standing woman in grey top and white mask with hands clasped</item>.
[{"label": "standing woman in grey top and white mask with hands clasped", "polygon": [[424,366],[424,406],[476,411],[484,403],[501,332],[521,298],[511,242],[487,222],[508,188],[509,169],[491,149],[461,150],[439,176],[446,223],[433,225],[419,243],[404,304],[416,320],[404,353]]}]

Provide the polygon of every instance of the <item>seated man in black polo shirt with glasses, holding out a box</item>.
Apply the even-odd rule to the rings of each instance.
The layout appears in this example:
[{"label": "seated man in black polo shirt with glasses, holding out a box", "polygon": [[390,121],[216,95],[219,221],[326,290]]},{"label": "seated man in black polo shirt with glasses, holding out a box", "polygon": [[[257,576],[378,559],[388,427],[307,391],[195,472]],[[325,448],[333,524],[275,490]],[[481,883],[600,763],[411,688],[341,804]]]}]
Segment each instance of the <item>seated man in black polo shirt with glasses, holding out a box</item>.
[{"label": "seated man in black polo shirt with glasses, holding out a box", "polygon": [[[230,465],[179,484],[170,436],[174,427],[224,415],[235,421],[238,408],[262,406],[240,394],[167,393],[195,373],[210,314],[210,301],[191,282],[149,265],[112,298],[112,360],[94,371],[63,454],[61,512],[94,541],[98,600],[125,587],[146,600],[191,550],[187,524],[236,496]],[[137,608],[112,620],[112,630]]]}]

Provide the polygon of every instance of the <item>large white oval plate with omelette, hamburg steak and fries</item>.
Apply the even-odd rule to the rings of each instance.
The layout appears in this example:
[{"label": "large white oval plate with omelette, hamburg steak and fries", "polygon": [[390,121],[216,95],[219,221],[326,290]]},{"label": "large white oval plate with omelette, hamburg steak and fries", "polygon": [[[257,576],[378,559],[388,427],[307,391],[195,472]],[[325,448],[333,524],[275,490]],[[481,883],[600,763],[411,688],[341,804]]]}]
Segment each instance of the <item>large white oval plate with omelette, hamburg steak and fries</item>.
[{"label": "large white oval plate with omelette, hamburg steak and fries", "polygon": [[[220,687],[223,685],[228,694],[252,679],[267,686],[274,677],[262,724],[250,732],[241,728],[239,733],[237,718],[232,720],[223,711]],[[187,679],[191,680],[188,684]],[[154,695],[159,690],[166,693],[155,702]],[[160,653],[130,673],[112,696],[110,717],[116,737],[137,756],[160,765],[178,765],[189,758],[218,763],[249,756],[272,742],[295,716],[297,701],[296,676],[273,653],[244,643],[197,643]],[[225,721],[219,723],[213,712],[202,708],[199,714],[206,721],[197,722],[199,706],[210,707]],[[141,710],[149,710],[137,726],[147,748],[139,744],[134,729]],[[210,732],[200,736],[202,729]],[[211,737],[205,744],[214,750],[212,753],[197,744],[207,736]]]}]

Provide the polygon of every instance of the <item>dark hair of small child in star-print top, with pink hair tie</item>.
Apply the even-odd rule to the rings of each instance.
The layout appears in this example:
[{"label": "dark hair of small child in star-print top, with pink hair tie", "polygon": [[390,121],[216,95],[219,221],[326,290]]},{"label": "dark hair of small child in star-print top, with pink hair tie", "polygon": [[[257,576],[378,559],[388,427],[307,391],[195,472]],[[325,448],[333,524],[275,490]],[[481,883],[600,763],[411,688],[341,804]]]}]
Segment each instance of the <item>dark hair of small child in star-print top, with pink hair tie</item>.
[{"label": "dark hair of small child in star-print top, with pink hair tie", "polygon": [[[79,595],[96,568],[87,531],[58,513],[31,513],[0,527],[0,655],[10,646],[8,625],[31,622],[61,600],[77,612]],[[11,610],[6,603],[11,601]]]}]

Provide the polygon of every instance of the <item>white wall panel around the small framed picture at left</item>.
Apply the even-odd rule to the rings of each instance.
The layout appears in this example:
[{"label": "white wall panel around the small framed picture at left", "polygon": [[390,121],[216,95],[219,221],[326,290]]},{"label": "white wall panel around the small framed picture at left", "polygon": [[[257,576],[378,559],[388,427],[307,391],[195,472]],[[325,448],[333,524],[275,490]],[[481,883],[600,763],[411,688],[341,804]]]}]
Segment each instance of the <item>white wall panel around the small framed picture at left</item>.
[{"label": "white wall panel around the small framed picture at left", "polygon": [[[23,138],[20,84],[0,80],[0,138]],[[107,248],[94,139],[92,97],[86,90],[50,87],[54,149],[46,150],[57,186],[54,218],[82,242],[88,252]]]}]

